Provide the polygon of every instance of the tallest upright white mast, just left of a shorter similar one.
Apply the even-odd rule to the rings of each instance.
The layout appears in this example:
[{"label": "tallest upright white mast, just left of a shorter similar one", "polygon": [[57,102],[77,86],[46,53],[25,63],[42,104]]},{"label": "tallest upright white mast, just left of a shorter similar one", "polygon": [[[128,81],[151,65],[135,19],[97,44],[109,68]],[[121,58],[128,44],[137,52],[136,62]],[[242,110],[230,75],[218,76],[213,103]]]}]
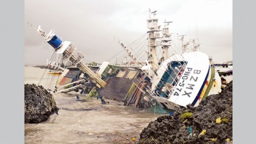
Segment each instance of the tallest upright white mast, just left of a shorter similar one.
[{"label": "tallest upright white mast, just left of a shorter similar one", "polygon": [[[149,57],[148,57],[148,61],[149,64],[151,65],[153,70],[156,70],[158,68],[157,63],[157,49],[156,47],[158,46],[157,43],[157,38],[160,38],[160,26],[158,26],[158,19],[156,18],[156,10],[154,12],[151,12],[151,10],[149,9],[149,18],[147,19],[147,25],[148,25],[148,39],[149,39]],[[154,13],[153,18],[151,18],[151,13]]]}]

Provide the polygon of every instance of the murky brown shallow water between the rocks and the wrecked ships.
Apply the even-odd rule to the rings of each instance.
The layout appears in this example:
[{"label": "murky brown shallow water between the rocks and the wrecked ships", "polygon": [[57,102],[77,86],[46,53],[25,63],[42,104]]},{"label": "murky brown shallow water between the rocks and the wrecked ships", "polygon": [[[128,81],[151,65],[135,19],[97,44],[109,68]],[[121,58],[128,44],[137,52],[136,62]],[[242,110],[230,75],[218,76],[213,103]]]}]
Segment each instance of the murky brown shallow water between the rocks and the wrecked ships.
[{"label": "murky brown shallow water between the rocks and the wrecked ships", "polygon": [[[37,67],[26,66],[24,70],[25,84],[38,84],[44,73],[44,69]],[[44,75],[40,85],[47,89],[49,79],[51,76]],[[102,105],[96,98],[87,98],[79,92],[52,95],[59,115],[53,114],[43,123],[25,124],[25,143],[121,143],[126,139],[132,143],[129,141],[132,137],[138,139],[143,128],[160,116],[113,100]]]}]

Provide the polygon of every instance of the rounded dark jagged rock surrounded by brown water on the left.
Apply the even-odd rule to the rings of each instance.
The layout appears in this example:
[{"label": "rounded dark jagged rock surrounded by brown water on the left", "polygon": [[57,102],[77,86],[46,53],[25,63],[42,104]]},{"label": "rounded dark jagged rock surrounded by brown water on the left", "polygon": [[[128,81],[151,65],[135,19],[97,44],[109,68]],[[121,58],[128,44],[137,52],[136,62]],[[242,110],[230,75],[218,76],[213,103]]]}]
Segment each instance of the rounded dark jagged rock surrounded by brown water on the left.
[{"label": "rounded dark jagged rock surrounded by brown water on the left", "polygon": [[35,84],[25,84],[24,117],[25,123],[41,123],[52,114],[58,114],[54,97],[50,92]]}]

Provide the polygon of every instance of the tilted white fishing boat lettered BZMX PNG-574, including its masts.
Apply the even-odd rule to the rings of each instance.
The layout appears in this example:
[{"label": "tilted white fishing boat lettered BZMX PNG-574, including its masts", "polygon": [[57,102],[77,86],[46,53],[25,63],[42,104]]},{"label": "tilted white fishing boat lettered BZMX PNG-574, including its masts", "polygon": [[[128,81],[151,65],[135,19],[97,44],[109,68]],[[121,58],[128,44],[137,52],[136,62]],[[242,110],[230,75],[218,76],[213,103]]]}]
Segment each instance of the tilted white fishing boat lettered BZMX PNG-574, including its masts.
[{"label": "tilted white fishing boat lettered BZMX PNG-574, including its masts", "polygon": [[[168,57],[171,46],[169,23],[160,30],[156,12],[149,9],[148,24],[148,64],[146,75],[150,83],[145,86],[141,100],[156,100],[164,109],[177,110],[180,106],[198,106],[205,97],[221,92],[221,78],[216,69],[210,66],[208,55],[199,52],[199,44],[192,41],[193,48],[187,49],[183,44],[184,35],[181,35],[182,53],[174,53]],[[151,18],[151,14],[154,16]],[[162,36],[160,36],[162,31]],[[158,41],[161,39],[162,41]],[[133,54],[121,44],[123,49],[133,58]],[[162,57],[158,59],[157,47],[162,47]],[[136,58],[133,58],[136,61]],[[140,88],[141,90],[141,88]]]}]

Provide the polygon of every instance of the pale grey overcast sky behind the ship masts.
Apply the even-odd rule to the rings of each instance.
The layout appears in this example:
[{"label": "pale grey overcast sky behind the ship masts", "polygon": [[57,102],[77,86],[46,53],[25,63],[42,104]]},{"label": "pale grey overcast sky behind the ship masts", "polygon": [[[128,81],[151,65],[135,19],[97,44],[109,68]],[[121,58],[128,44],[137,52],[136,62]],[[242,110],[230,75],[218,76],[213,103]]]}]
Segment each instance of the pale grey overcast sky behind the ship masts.
[{"label": "pale grey overcast sky behind the ship masts", "polygon": [[172,21],[171,33],[187,35],[186,41],[199,38],[213,61],[232,60],[232,0],[25,0],[24,63],[45,64],[54,50],[27,22],[46,33],[54,29],[85,60],[102,63],[122,50],[114,38],[128,45],[147,32],[149,8],[157,10],[158,24]]}]

